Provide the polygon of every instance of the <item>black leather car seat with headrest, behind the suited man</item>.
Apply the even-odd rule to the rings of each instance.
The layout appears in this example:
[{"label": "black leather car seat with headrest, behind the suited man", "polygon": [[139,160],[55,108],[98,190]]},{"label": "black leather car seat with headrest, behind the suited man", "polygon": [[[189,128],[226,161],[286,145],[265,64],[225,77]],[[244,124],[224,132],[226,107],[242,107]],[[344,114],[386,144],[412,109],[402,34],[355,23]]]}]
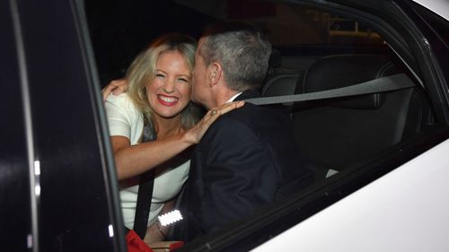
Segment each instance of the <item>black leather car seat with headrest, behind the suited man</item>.
[{"label": "black leather car seat with headrest, behind the suited man", "polygon": [[[307,69],[304,78],[297,74],[296,78],[286,75],[271,79],[263,94],[291,94],[280,93],[291,91],[291,85],[295,85],[295,93],[323,91],[398,73],[405,71],[386,56],[325,56]],[[277,80],[280,87],[274,88]],[[291,109],[296,141],[318,178],[325,178],[329,169],[342,170],[374,157],[418,133],[429,113],[418,88],[308,101]]]}]

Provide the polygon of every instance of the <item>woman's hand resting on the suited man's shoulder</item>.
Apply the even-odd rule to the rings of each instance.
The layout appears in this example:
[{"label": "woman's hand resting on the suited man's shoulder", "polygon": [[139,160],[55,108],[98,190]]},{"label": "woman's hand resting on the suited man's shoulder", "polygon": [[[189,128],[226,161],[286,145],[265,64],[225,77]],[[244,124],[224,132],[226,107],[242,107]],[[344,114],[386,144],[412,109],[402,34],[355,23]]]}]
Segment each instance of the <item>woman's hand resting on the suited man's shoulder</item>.
[{"label": "woman's hand resting on the suited man's shoulder", "polygon": [[225,103],[222,106],[210,109],[207,111],[206,115],[198,122],[198,124],[192,128],[190,128],[188,131],[186,131],[185,136],[187,137],[186,140],[189,143],[199,143],[199,140],[201,140],[201,137],[206,133],[209,126],[211,126],[218,117],[221,115],[226,114],[229,111],[232,111],[233,109],[241,108],[244,105],[243,100],[233,101],[229,103]]}]

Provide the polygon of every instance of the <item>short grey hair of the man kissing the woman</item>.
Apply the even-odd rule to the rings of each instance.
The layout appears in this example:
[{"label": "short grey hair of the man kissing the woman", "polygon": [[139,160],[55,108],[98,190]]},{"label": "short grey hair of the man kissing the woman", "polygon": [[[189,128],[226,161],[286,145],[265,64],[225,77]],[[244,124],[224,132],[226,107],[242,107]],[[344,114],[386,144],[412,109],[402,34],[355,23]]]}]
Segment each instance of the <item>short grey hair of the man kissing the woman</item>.
[{"label": "short grey hair of the man kissing the woman", "polygon": [[223,65],[225,81],[233,91],[256,90],[269,67],[271,44],[259,30],[237,22],[210,26],[199,55],[206,65]]}]

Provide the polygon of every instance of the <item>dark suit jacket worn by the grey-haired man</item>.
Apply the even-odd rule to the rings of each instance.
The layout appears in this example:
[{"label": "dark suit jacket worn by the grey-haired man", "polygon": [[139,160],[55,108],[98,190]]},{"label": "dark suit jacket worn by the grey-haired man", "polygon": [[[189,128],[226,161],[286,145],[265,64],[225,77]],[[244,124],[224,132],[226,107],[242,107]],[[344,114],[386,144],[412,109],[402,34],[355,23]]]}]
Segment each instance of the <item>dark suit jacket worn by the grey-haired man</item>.
[{"label": "dark suit jacket worn by the grey-haired man", "polygon": [[[236,100],[255,96],[245,91]],[[310,183],[290,117],[275,107],[245,103],[210,126],[193,152],[180,204],[185,219],[173,227],[174,239],[217,230],[274,203],[282,187]]]}]

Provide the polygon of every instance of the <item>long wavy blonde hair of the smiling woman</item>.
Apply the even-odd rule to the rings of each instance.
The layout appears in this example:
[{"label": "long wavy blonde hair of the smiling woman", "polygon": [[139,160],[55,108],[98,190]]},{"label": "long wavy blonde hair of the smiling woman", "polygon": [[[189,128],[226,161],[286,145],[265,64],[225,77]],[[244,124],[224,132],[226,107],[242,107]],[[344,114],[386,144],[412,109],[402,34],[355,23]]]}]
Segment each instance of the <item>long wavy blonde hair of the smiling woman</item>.
[{"label": "long wavy blonde hair of the smiling woman", "polygon": [[[142,51],[131,63],[127,72],[128,95],[134,102],[136,108],[142,112],[145,124],[148,122],[155,124],[154,111],[148,102],[145,91],[146,83],[154,78],[157,58],[163,52],[176,51],[186,59],[190,72],[195,64],[195,49],[197,42],[195,39],[182,34],[167,34],[155,39],[148,48]],[[189,102],[189,105],[180,113],[181,126],[189,129],[198,122],[198,105]]]}]

